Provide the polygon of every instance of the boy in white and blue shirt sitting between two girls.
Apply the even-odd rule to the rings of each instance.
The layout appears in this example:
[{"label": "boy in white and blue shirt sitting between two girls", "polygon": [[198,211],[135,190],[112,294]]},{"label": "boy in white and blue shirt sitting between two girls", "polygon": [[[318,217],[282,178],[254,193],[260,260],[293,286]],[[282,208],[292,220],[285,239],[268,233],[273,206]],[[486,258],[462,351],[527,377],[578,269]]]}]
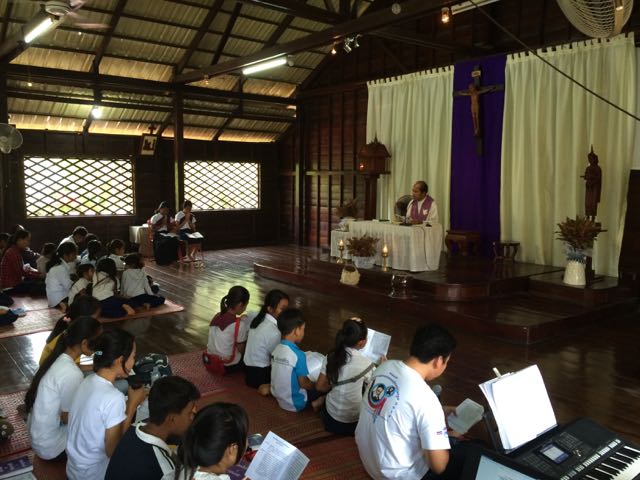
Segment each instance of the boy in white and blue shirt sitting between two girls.
[{"label": "boy in white and blue shirt sitting between two girls", "polygon": [[300,412],[307,405],[314,409],[322,405],[324,397],[309,380],[307,358],[298,344],[304,338],[305,323],[297,308],[285,310],[278,317],[282,334],[280,344],[271,354],[271,395],[283,410]]}]

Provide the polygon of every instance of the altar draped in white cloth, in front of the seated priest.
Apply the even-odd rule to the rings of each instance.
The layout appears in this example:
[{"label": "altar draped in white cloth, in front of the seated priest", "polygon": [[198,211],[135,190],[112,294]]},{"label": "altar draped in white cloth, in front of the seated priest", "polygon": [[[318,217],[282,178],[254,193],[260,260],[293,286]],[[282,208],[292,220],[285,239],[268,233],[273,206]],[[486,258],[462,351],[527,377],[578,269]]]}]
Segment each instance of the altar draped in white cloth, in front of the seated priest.
[{"label": "altar draped in white cloth, in front of the seated priest", "polygon": [[340,256],[338,245],[342,240],[345,244],[343,258],[351,258],[346,249],[347,240],[363,235],[380,239],[376,245],[376,265],[382,265],[382,247],[385,244],[389,249],[388,265],[395,270],[424,272],[437,270],[440,265],[444,229],[439,223],[403,226],[390,222],[352,222],[348,232],[331,231],[331,256]]}]

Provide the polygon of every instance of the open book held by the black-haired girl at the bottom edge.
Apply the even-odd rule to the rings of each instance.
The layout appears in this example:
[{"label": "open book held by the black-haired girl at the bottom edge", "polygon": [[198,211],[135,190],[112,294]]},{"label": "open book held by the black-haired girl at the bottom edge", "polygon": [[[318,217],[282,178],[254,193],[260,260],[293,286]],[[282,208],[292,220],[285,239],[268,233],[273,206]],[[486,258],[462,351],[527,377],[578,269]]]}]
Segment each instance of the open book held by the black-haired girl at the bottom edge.
[{"label": "open book held by the black-haired girl at the bottom edge", "polygon": [[251,480],[297,480],[308,464],[300,450],[269,432],[246,475]]}]

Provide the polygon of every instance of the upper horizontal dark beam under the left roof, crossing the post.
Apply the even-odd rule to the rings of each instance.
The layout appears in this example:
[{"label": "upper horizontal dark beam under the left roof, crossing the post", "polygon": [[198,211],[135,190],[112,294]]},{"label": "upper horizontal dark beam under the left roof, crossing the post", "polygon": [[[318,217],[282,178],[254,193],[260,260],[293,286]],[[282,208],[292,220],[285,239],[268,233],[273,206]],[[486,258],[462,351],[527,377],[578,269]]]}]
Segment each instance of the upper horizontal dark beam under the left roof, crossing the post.
[{"label": "upper horizontal dark beam under the left roof, crossing the post", "polygon": [[[81,88],[96,88],[115,92],[130,92],[169,96],[176,90],[176,85],[168,82],[156,82],[138,78],[117,77],[114,75],[96,75],[90,72],[75,72],[45,67],[30,67],[26,65],[6,65],[7,77],[12,80],[31,79],[37,83],[58,85],[70,85]],[[185,99],[200,99],[216,101],[215,99],[246,100],[253,102],[275,103],[290,105],[295,103],[292,98],[278,97],[274,95],[258,95],[255,93],[242,93],[212,88],[193,87],[184,88]]]}]

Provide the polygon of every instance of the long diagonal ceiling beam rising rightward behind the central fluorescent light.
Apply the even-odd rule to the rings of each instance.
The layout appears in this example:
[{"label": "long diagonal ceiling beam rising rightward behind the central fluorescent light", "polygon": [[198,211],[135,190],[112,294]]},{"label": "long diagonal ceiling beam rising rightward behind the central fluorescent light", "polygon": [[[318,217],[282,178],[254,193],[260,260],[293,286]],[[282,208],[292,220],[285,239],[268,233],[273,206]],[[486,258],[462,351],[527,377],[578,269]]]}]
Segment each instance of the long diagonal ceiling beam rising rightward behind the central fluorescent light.
[{"label": "long diagonal ceiling beam rising rightward behind the central fluorescent light", "polygon": [[312,33],[311,35],[299,38],[292,42],[274,45],[254,54],[221,64],[212,65],[201,70],[183,73],[176,77],[176,81],[180,83],[196,82],[198,80],[202,80],[205,75],[208,75],[209,77],[222,75],[269,58],[302,52],[309,50],[310,48],[327,45],[344,38],[347,35],[368,33],[387,27],[392,23],[407,22],[437,10],[440,7],[440,4],[440,0],[407,0],[402,3],[402,9],[398,14],[393,14],[390,10],[383,9],[363,15],[358,19],[349,20],[340,25],[336,25],[335,27]]}]

